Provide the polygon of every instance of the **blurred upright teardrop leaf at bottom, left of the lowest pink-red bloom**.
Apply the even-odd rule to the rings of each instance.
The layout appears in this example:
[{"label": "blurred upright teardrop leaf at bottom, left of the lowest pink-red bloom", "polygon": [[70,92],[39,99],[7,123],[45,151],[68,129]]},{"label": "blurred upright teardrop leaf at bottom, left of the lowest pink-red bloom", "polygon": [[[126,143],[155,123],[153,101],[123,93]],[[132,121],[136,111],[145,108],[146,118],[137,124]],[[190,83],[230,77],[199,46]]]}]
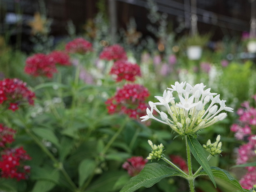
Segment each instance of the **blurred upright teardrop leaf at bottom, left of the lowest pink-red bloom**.
[{"label": "blurred upright teardrop leaf at bottom, left of the lowest pink-red bloom", "polygon": [[94,172],[96,163],[92,159],[84,159],[78,167],[79,187],[84,184],[84,181]]}]

